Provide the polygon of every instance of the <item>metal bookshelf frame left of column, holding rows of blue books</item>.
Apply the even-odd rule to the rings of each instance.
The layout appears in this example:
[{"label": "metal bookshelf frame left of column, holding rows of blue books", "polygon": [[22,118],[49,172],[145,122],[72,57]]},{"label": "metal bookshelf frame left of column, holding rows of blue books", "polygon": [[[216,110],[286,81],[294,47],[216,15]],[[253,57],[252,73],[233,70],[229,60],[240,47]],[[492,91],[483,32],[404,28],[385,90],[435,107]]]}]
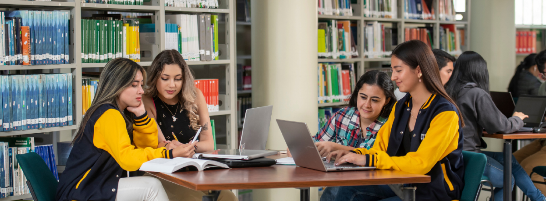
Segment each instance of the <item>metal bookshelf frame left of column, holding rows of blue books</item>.
[{"label": "metal bookshelf frame left of column, holding rows of blue books", "polygon": [[[61,2],[63,1],[63,2]],[[69,2],[66,2],[69,1]],[[76,3],[77,2],[77,3]],[[216,61],[187,61],[191,68],[194,65],[198,65],[197,68],[204,66],[205,68],[209,65],[220,65],[225,68],[221,72],[212,72],[210,75],[214,76],[215,74],[221,73],[225,77],[220,78],[219,80],[223,82],[220,84],[221,92],[225,92],[224,97],[227,97],[228,100],[223,102],[227,105],[221,106],[221,110],[217,112],[210,113],[211,119],[215,119],[217,129],[221,130],[221,136],[224,136],[226,139],[225,145],[220,145],[225,148],[233,147],[236,145],[237,139],[237,125],[236,125],[236,81],[235,73],[235,0],[219,0],[220,8],[218,9],[208,9],[208,8],[178,8],[178,7],[165,7],[165,0],[152,0],[146,5],[117,5],[117,4],[96,4],[96,3],[80,3],[78,0],[54,0],[51,2],[41,2],[41,1],[19,1],[19,0],[1,0],[0,1],[0,10],[15,10],[15,9],[30,9],[30,10],[69,10],[70,11],[70,62],[71,64],[54,64],[54,65],[34,65],[34,66],[0,66],[0,70],[55,70],[55,69],[69,69],[70,73],[73,74],[73,126],[64,126],[64,127],[54,127],[54,128],[44,128],[44,129],[31,129],[26,131],[13,131],[13,132],[0,132],[0,136],[9,136],[9,135],[22,135],[22,134],[32,134],[32,133],[44,133],[44,132],[57,132],[57,131],[72,131],[74,133],[78,127],[76,125],[81,121],[82,118],[82,89],[81,89],[81,79],[82,79],[82,70],[84,68],[101,68],[104,67],[105,63],[82,63],[81,58],[81,15],[82,11],[120,11],[120,12],[136,12],[136,13],[153,13],[156,23],[156,43],[154,46],[155,52],[153,52],[153,57],[161,50],[165,49],[165,12],[168,14],[183,14],[183,13],[211,13],[224,15],[220,19],[223,20],[224,28],[221,30],[223,33],[219,33],[222,38],[221,43],[225,45],[223,60]],[[153,58],[152,57],[152,58]],[[139,62],[141,66],[150,66],[151,62]],[[200,75],[201,78],[206,78],[207,75]],[[216,117],[221,117],[216,119]],[[217,133],[219,132],[217,130]],[[217,134],[219,135],[219,134]],[[54,142],[55,144],[55,142]],[[2,198],[0,201],[7,200],[17,200],[17,199],[26,199],[31,198],[30,194],[23,196],[14,196],[9,198]]]}]

